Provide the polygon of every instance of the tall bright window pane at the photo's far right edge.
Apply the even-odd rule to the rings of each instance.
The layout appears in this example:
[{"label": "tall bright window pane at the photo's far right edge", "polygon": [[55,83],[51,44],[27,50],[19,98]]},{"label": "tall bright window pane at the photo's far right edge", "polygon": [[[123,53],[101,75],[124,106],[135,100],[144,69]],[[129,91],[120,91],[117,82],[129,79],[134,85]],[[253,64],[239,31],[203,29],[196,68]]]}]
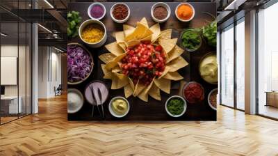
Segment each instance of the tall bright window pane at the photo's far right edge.
[{"label": "tall bright window pane at the photo's far right edge", "polygon": [[258,52],[259,114],[278,118],[278,3],[260,10]]}]

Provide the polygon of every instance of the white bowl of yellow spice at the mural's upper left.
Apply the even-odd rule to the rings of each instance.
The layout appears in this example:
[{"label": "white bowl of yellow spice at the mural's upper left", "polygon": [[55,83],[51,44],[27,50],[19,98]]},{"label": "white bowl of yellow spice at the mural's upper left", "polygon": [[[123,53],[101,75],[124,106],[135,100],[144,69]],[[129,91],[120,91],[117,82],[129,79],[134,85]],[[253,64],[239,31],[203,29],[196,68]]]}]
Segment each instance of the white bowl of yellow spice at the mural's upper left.
[{"label": "white bowl of yellow spice at the mural's upper left", "polygon": [[86,20],[79,27],[79,38],[90,47],[101,47],[107,39],[106,27],[99,20]]}]

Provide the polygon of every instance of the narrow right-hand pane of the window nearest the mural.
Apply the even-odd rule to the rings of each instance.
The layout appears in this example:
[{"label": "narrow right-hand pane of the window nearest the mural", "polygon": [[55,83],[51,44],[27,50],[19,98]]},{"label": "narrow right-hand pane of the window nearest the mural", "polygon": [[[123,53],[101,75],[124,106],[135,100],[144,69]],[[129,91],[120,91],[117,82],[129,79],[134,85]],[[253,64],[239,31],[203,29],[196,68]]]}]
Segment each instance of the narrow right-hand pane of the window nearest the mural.
[{"label": "narrow right-hand pane of the window nearest the mural", "polygon": [[236,25],[236,107],[245,109],[245,24]]}]

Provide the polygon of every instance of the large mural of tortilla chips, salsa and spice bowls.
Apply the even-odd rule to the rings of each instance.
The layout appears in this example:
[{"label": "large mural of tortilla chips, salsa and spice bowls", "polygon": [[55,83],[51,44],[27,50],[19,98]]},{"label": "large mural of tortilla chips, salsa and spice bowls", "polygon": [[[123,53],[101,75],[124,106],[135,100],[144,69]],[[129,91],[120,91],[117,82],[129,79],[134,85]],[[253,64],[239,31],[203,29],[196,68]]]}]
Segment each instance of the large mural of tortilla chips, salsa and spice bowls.
[{"label": "large mural of tortilla chips, salsa and spice bowls", "polygon": [[216,120],[215,3],[69,3],[69,120]]}]

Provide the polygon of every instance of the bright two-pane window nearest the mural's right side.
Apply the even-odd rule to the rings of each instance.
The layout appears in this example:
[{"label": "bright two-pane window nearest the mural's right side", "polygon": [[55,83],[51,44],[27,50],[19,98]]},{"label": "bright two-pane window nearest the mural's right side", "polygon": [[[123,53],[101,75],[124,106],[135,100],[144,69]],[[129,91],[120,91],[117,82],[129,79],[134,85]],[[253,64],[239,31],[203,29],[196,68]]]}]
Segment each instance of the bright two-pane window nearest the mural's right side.
[{"label": "bright two-pane window nearest the mural's right side", "polygon": [[220,31],[220,104],[245,109],[245,20]]}]

